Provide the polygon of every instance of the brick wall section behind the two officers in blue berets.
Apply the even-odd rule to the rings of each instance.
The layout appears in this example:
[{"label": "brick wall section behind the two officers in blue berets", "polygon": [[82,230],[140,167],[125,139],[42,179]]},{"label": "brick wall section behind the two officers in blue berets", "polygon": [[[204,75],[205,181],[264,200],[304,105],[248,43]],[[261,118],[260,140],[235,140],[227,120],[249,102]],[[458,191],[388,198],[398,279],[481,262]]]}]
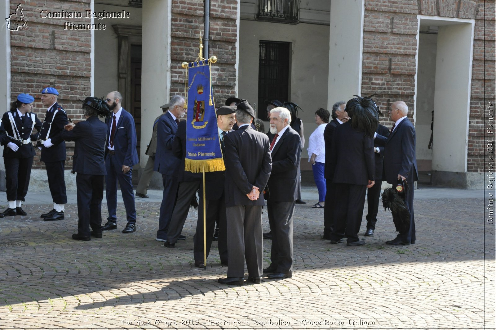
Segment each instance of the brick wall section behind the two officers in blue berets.
[{"label": "brick wall section behind the two officers in blue berets", "polygon": [[[58,102],[72,120],[83,118],[81,103],[91,92],[91,33],[88,30],[64,30],[63,22],[88,24],[84,10],[91,0],[28,1],[10,0],[10,12],[21,3],[28,27],[10,32],[11,100],[19,93],[35,97],[34,112],[40,120],[46,108],[41,104],[41,90],[53,86],[59,91]],[[42,18],[40,11],[83,11],[82,18]],[[66,168],[72,167],[73,143],[67,143]],[[33,168],[42,168],[37,150]]]}]

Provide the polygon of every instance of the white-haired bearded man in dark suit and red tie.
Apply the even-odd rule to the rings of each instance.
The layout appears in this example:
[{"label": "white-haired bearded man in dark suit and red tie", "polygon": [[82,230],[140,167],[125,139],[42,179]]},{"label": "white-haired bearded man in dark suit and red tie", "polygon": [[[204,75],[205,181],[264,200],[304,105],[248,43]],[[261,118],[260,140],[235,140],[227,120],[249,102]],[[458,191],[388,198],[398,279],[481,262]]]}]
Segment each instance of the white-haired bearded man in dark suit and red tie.
[{"label": "white-haired bearded man in dark suit and red tie", "polygon": [[291,128],[291,112],[278,107],[270,110],[272,169],[267,188],[267,215],[272,232],[271,264],[264,269],[268,278],[293,276],[293,212],[298,199],[298,170],[302,141]]}]

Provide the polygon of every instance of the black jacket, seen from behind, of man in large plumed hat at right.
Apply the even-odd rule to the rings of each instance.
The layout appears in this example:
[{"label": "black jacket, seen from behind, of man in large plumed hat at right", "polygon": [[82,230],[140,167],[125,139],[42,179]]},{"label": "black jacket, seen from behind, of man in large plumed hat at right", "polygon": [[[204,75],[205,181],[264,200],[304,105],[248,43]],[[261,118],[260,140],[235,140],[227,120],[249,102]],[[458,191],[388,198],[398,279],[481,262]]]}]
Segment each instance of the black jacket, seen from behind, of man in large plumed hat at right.
[{"label": "black jacket, seen from behind, of man in large plumed hat at right", "polygon": [[336,126],[332,136],[331,163],[333,183],[367,185],[375,179],[372,138],[351,127],[351,121]]}]

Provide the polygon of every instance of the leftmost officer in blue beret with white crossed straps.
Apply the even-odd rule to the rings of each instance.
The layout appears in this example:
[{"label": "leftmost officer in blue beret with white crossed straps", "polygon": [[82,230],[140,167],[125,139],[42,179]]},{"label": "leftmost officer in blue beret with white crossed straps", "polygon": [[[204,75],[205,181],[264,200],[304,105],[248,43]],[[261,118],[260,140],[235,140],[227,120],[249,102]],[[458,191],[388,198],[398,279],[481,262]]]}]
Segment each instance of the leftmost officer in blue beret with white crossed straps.
[{"label": "leftmost officer in blue beret with white crossed straps", "polygon": [[0,128],[0,143],[3,149],[3,163],[7,186],[8,207],[0,213],[5,216],[26,215],[21,204],[26,197],[31,177],[33,157],[36,155],[30,135],[33,128],[41,128],[41,122],[32,113],[34,97],[19,94],[12,102],[10,111],[3,114]]}]

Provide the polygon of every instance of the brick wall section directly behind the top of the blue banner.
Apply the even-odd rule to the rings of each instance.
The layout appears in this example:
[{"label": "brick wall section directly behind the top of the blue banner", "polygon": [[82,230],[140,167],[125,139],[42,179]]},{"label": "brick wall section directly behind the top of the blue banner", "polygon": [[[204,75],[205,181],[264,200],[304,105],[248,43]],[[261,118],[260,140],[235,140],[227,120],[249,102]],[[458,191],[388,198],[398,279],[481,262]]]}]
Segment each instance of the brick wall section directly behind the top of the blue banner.
[{"label": "brick wall section directly behind the top of the blue banner", "polygon": [[[218,59],[211,67],[216,107],[235,96],[237,3],[237,0],[210,1],[208,57],[215,55]],[[172,0],[171,25],[171,95],[184,94],[186,75],[181,63],[198,57],[199,33],[204,30],[203,1]]]}]

